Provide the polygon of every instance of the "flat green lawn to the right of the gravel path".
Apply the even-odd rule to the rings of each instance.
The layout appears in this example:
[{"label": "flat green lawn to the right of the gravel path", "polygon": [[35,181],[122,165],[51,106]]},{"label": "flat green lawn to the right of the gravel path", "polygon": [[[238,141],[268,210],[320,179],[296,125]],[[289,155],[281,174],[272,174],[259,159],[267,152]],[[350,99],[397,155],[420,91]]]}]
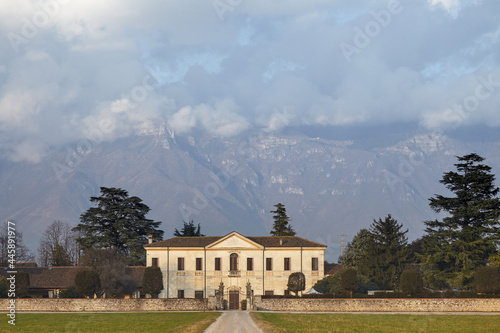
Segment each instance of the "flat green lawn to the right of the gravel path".
[{"label": "flat green lawn to the right of the gravel path", "polygon": [[500,316],[252,313],[275,332],[499,332]]}]

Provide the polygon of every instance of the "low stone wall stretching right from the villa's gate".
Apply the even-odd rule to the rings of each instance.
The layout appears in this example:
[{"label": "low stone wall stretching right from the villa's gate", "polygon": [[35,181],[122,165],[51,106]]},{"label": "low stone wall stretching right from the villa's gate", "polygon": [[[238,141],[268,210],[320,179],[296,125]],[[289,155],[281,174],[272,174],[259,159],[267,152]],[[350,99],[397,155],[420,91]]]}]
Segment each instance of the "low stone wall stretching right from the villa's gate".
[{"label": "low stone wall stretching right from the villa's gate", "polygon": [[314,299],[256,296],[254,307],[270,311],[327,312],[500,312],[499,298]]}]

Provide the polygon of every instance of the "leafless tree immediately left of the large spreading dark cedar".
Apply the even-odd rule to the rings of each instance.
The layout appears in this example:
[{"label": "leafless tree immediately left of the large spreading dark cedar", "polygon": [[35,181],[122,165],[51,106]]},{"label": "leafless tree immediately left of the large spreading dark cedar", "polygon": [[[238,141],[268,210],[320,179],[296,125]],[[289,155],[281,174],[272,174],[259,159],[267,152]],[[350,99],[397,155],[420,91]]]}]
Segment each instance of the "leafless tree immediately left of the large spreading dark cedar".
[{"label": "leafless tree immediately left of the large spreading dark cedar", "polygon": [[78,263],[80,247],[78,233],[66,222],[54,221],[45,229],[38,248],[41,266],[72,266]]}]

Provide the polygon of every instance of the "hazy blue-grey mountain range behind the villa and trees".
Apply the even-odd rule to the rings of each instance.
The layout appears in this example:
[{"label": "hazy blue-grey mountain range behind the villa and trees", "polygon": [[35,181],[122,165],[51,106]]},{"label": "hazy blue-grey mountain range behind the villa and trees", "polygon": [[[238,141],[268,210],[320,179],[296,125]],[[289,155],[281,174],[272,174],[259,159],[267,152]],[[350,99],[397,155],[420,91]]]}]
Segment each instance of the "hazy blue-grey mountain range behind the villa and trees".
[{"label": "hazy blue-grey mountain range behind the villa and trees", "polygon": [[253,128],[220,138],[158,123],[113,142],[76,142],[37,164],[2,162],[0,218],[17,221],[35,250],[54,220],[76,224],[100,186],[142,198],[166,238],[191,219],[207,235],[267,235],[269,211],[281,202],[297,234],[327,244],[326,259],[336,261],[341,234],[349,241],[387,214],[410,240],[422,235],[422,221],[437,217],[428,198],[446,194],[439,180],[455,156],[477,152],[498,175],[499,148],[500,135],[486,128],[462,128],[460,139],[404,124]]}]

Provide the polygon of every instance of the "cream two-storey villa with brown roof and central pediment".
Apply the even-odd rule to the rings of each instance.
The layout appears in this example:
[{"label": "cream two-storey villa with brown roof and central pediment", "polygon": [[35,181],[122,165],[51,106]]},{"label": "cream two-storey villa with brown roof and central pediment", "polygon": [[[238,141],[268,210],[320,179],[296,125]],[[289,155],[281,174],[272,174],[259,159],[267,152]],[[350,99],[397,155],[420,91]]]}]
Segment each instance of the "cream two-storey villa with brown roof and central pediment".
[{"label": "cream two-storey villa with brown roof and central pediment", "polygon": [[[326,245],[296,236],[175,237],[144,246],[147,266],[163,273],[160,297],[206,298],[224,284],[228,303],[250,283],[254,295],[288,294],[288,277],[302,272],[309,290],[324,277]],[[226,294],[225,294],[226,295]],[[238,303],[236,303],[238,304]]]}]

